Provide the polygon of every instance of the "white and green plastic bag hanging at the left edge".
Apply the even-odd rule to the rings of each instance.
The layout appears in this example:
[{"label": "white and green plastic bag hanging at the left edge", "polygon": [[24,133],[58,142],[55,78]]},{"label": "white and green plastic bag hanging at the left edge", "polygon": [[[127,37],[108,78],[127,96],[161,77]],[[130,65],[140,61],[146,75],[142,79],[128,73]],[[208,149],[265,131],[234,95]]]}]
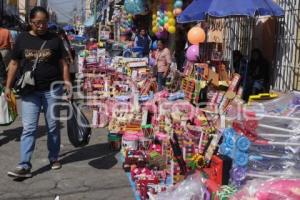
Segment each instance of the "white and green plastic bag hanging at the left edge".
[{"label": "white and green plastic bag hanging at the left edge", "polygon": [[10,99],[5,99],[4,87],[0,86],[0,126],[10,125],[18,116],[16,97],[13,93]]}]

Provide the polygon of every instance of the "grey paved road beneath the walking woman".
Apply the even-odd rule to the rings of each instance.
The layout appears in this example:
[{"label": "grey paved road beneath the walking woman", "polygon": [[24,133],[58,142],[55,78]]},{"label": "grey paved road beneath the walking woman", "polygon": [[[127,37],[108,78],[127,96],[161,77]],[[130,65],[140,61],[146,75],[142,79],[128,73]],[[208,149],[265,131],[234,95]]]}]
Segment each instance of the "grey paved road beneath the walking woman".
[{"label": "grey paved road beneath the walking woman", "polygon": [[19,138],[22,130],[19,117],[9,127],[0,127],[0,199],[30,200],[126,200],[134,199],[118,162],[118,155],[106,143],[105,130],[94,130],[91,142],[84,148],[72,147],[62,122],[61,161],[63,168],[50,170],[47,160],[45,121],[40,118],[38,140],[33,155],[33,178],[13,180],[7,171],[19,159]]}]

